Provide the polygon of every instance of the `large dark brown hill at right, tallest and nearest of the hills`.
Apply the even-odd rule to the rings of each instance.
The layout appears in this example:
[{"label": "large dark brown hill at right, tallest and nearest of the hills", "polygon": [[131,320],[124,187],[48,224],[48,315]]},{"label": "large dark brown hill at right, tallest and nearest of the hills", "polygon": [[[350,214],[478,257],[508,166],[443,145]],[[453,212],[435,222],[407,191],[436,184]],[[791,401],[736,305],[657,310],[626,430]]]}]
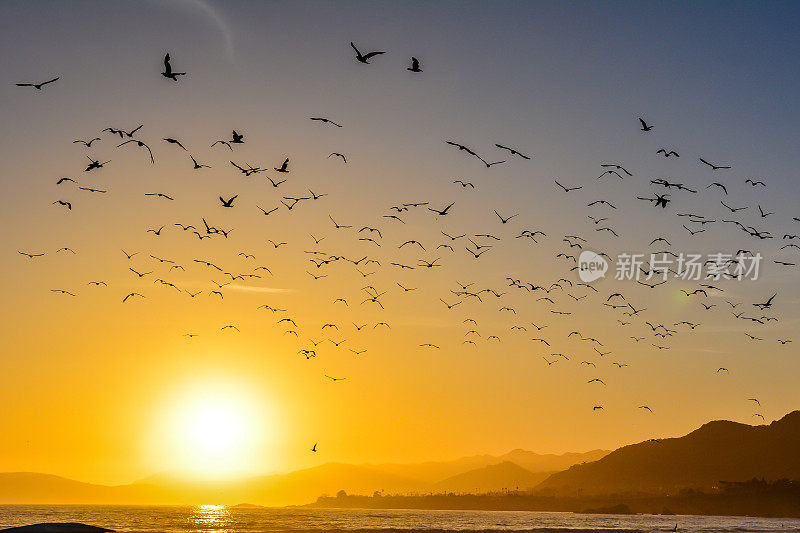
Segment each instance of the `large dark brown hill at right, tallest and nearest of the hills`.
[{"label": "large dark brown hill at right, tallest and nearest of the hills", "polygon": [[551,475],[537,490],[669,493],[754,477],[800,479],[799,451],[800,411],[761,426],[709,422],[683,437],[632,444],[575,465]]}]

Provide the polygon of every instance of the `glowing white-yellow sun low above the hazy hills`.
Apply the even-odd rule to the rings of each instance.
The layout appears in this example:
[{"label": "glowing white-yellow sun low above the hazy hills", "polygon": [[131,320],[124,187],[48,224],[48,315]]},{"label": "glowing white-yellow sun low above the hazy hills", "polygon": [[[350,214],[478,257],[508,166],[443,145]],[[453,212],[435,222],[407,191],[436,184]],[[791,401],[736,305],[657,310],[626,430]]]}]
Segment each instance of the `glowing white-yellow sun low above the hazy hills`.
[{"label": "glowing white-yellow sun low above the hazy hills", "polygon": [[275,425],[263,395],[241,384],[193,383],[166,401],[155,438],[160,468],[228,478],[264,467]]}]

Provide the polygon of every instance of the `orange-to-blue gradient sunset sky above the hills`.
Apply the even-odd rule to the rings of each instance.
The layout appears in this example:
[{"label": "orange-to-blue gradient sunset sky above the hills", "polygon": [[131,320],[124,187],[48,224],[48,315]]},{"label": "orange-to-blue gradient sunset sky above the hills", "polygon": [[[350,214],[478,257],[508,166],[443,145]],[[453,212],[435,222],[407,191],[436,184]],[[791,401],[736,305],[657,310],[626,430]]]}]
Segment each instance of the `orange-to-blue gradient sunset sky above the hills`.
[{"label": "orange-to-blue gradient sunset sky above the hills", "polygon": [[[125,483],[174,470],[563,453],[796,409],[800,338],[778,339],[796,337],[798,267],[773,261],[800,252],[781,249],[800,242],[783,238],[800,233],[798,16],[789,2],[0,3],[0,471]],[[359,63],[351,41],[386,53]],[[187,73],[177,82],[159,75],[165,53]],[[412,56],[422,72],[406,70]],[[55,76],[41,91],[15,85]],[[154,164],[102,131],[140,124],[132,138]],[[244,144],[211,146],[232,130]],[[73,143],[93,137],[90,148]],[[487,168],[448,140],[506,162]],[[211,168],[193,169],[189,154]],[[85,172],[87,156],[110,162]],[[274,171],[286,158],[289,172]],[[231,161],[267,171],[244,176]],[[632,175],[598,178],[607,163]],[[75,182],[56,185],[63,177]],[[565,193],[554,180],[583,188]],[[281,205],[309,189],[326,196]],[[664,192],[664,209],[636,199]],[[234,195],[222,207],[218,197]],[[587,206],[597,199],[615,208]],[[748,208],[731,213],[721,200]],[[413,202],[429,205],[391,209]],[[428,209],[451,202],[446,216]],[[495,210],[517,216],[503,224]],[[201,240],[175,225],[202,232],[203,218],[230,235]],[[526,229],[546,236],[517,238]],[[475,259],[467,237],[441,232],[491,248]],[[746,249],[765,259],[758,280],[713,282],[723,290],[707,296],[681,292],[703,281],[676,279],[651,289],[609,276],[596,292],[509,286],[578,283],[575,263],[556,257],[579,251],[565,235],[611,257]],[[657,237],[669,245],[651,245]],[[398,248],[408,240],[425,250]],[[331,256],[380,265],[309,261]],[[196,259],[262,277],[232,280]],[[479,301],[458,282],[505,294]],[[367,291],[385,292],[380,305]],[[132,292],[145,297],[122,303]],[[615,292],[646,311],[604,306]],[[771,309],[753,307],[775,293]],[[746,319],[765,315],[778,320]],[[645,322],[675,333],[656,337]]]}]

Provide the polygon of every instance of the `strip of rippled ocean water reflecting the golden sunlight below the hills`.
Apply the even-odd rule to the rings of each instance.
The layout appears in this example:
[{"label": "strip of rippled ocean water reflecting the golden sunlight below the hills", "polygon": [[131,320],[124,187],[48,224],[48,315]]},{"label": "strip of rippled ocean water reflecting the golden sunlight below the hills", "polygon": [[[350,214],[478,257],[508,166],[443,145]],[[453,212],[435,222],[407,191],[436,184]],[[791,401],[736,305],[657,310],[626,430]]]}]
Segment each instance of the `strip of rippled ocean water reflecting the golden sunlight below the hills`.
[{"label": "strip of rippled ocean water reflecting the golden sunlight below the hills", "polygon": [[240,508],[219,505],[0,505],[0,526],[82,522],[141,533],[257,533],[270,531],[525,531],[645,533],[672,531],[795,532],[800,519],[691,515],[594,515],[528,511],[419,511]]}]

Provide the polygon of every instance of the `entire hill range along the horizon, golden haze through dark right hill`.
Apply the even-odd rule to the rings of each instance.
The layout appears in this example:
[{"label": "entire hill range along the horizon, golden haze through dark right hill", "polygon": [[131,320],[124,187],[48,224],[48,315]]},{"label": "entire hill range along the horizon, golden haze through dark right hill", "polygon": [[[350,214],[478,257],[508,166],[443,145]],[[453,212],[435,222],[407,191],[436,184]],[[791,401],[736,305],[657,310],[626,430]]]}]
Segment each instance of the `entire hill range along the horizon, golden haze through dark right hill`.
[{"label": "entire hill range along the horizon, golden haze through dark right hill", "polygon": [[[36,473],[0,474],[0,503],[306,504],[340,490],[371,495],[481,493],[534,488],[557,495],[674,493],[721,481],[800,479],[800,411],[769,425],[704,424],[688,435],[653,439],[611,453],[540,455],[514,450],[418,464],[327,463],[287,474],[229,482],[160,474],[120,486]],[[557,471],[559,468],[565,469]],[[550,472],[554,472],[549,475]],[[546,478],[546,479],[545,479]]]}]

